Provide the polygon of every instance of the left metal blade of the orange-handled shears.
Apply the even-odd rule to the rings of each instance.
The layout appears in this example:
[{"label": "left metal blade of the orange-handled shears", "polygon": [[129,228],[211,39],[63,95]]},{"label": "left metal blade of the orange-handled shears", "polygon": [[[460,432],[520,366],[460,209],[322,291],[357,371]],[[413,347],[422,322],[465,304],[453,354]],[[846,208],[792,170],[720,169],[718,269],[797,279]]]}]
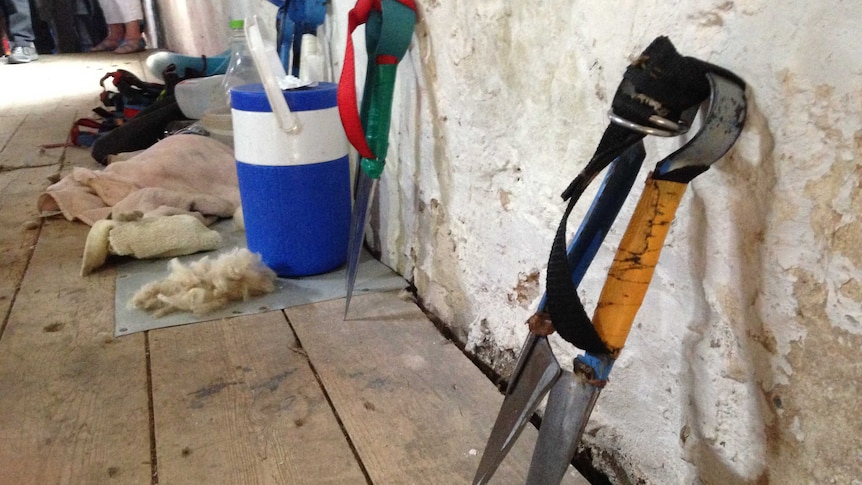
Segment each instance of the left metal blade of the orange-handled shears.
[{"label": "left metal blade of the orange-handled shears", "polygon": [[551,351],[548,339],[530,335],[524,346],[524,352],[529,355],[524,360],[518,382],[509,386],[491,437],[488,438],[489,446],[493,444],[494,449],[486,449],[482,454],[473,485],[486,483],[491,478],[523,431],[523,423],[530,420],[536,406],[560,375],[560,364]]}]

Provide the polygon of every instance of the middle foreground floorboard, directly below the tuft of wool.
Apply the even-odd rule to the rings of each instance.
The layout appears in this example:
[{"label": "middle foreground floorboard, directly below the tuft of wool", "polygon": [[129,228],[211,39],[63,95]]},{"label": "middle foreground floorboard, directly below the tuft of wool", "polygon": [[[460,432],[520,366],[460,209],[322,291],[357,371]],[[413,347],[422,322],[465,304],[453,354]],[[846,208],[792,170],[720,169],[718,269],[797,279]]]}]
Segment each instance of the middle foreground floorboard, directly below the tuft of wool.
[{"label": "middle foreground floorboard, directly below the tuft of wool", "polygon": [[150,332],[159,482],[362,484],[281,312]]}]

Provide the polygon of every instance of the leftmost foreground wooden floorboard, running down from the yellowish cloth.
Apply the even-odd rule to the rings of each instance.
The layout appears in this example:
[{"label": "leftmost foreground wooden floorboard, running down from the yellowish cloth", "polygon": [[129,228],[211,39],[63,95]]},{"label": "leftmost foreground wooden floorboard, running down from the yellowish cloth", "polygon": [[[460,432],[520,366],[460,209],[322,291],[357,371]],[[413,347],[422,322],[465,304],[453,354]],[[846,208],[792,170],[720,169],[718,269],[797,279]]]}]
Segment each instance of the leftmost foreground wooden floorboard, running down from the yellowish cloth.
[{"label": "leftmost foreground wooden floorboard, running down from the yellowish cloth", "polygon": [[[150,483],[143,335],[114,339],[114,272],[48,220],[0,339],[0,483]],[[113,480],[113,482],[112,482]]]}]

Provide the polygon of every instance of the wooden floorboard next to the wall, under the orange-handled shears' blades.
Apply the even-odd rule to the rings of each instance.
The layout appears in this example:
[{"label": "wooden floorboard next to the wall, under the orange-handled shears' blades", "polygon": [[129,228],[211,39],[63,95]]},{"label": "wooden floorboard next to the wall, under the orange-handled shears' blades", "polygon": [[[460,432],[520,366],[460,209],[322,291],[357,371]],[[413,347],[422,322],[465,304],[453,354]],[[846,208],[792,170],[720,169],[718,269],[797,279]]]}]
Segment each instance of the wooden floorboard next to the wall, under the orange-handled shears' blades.
[{"label": "wooden floorboard next to the wall, under the orange-handled shears' blades", "polygon": [[[413,302],[362,295],[350,312],[361,319],[343,321],[343,300],[286,310],[372,481],[470,483],[500,392]],[[528,426],[491,483],[524,482],[535,437]]]}]

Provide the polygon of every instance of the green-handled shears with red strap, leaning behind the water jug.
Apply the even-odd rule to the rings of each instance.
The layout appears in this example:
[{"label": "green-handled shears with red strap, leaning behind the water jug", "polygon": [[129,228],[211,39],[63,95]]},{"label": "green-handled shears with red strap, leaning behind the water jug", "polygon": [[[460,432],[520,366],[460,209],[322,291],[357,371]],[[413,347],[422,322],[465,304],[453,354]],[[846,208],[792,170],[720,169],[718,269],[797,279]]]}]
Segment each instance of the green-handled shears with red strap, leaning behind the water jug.
[{"label": "green-handled shears with red strap, leaning behind the water jug", "polygon": [[[357,110],[356,66],[351,35],[361,24],[365,24],[368,69],[362,106]],[[410,46],[415,24],[416,4],[412,0],[359,0],[348,14],[347,49],[338,83],[338,110],[347,139],[359,152],[360,158],[350,218],[345,318],[356,283],[368,211],[377,190],[377,181],[386,164],[395,74],[398,62]]]}]

